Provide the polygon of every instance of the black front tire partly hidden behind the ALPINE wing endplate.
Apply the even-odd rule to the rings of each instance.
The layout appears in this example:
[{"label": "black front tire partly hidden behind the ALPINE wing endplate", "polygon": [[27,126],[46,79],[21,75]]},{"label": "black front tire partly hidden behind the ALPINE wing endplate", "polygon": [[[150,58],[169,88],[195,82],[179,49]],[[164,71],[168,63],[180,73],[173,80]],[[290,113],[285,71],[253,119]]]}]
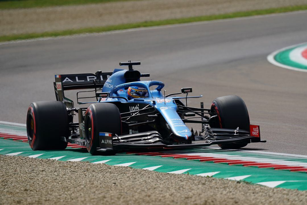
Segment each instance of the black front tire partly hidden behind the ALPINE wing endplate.
[{"label": "black front tire partly hidden behind the ALPINE wing endplate", "polygon": [[99,152],[99,132],[108,132],[112,134],[122,134],[122,121],[119,109],[111,103],[91,104],[85,113],[84,134],[85,146],[92,155],[106,154],[114,155],[116,151]]}]

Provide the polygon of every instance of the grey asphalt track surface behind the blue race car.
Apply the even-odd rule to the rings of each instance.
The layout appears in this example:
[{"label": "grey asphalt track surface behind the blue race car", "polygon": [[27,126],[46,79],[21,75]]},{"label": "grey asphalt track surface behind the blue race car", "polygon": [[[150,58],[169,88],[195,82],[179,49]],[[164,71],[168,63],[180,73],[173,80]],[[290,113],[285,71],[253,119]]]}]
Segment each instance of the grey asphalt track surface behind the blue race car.
[{"label": "grey asphalt track surface behind the blue race car", "polygon": [[294,12],[2,44],[0,120],[25,123],[31,102],[55,100],[54,74],[110,72],[118,62],[141,61],[147,79],[165,82],[167,93],[191,86],[206,107],[219,96],[241,96],[268,141],[247,148],[307,155],[307,73],[266,60],[307,42],[306,19],[307,12]]}]

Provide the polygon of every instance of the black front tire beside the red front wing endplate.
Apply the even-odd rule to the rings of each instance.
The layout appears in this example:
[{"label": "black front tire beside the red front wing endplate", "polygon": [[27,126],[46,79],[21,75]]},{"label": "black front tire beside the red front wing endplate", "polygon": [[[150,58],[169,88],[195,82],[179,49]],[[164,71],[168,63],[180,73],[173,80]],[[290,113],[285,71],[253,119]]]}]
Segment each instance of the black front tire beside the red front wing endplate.
[{"label": "black front tire beside the red front wing endplate", "polygon": [[[211,105],[211,112],[216,112],[216,123],[213,127],[226,129],[250,130],[250,120],[247,107],[242,98],[228,95],[216,98]],[[210,125],[211,126],[211,125]],[[219,144],[222,149],[238,149],[245,147],[248,142]]]}]

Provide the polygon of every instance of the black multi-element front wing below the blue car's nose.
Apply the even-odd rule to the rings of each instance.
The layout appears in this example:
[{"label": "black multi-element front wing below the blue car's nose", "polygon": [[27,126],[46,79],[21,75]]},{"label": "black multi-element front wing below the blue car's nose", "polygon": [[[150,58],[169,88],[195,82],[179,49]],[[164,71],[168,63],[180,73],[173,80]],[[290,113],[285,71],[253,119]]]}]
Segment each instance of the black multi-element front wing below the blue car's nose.
[{"label": "black multi-element front wing below the blue car's nose", "polygon": [[[105,137],[103,139],[106,139]],[[161,148],[193,148],[208,147],[214,144],[239,143],[239,142],[266,142],[259,136],[252,136],[249,131],[222,128],[207,128],[205,136],[195,136],[195,140],[190,144],[168,144],[157,131],[148,131],[137,134],[109,136],[108,144],[100,142],[97,151],[108,150],[133,150],[133,149],[161,149]],[[101,140],[100,140],[101,141]],[[204,143],[200,143],[200,141]]]}]

